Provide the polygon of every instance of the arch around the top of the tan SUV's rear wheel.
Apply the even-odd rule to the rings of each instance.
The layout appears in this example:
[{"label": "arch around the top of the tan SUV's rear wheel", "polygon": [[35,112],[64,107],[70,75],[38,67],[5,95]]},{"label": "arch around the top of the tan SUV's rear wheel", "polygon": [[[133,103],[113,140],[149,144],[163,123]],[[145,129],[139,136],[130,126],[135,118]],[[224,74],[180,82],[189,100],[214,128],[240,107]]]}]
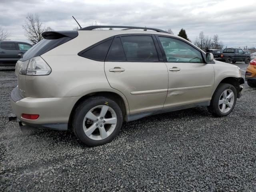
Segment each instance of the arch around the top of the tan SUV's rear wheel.
[{"label": "arch around the top of the tan SUV's rear wheel", "polygon": [[69,120],[68,120],[68,129],[71,128],[71,124],[72,124],[72,120],[74,117],[74,111],[77,108],[77,106],[84,100],[93,97],[93,96],[104,96],[104,97],[108,97],[112,100],[114,100],[118,106],[120,107],[121,111],[122,111],[122,116],[123,119],[126,117],[126,115],[129,114],[129,106],[126,105],[126,102],[124,101],[124,99],[122,98],[122,96],[120,96],[119,94],[115,93],[115,92],[110,92],[110,91],[102,91],[102,92],[92,92],[89,94],[86,94],[84,96],[82,96],[73,106],[71,112],[70,112],[70,116],[69,116]]}]

